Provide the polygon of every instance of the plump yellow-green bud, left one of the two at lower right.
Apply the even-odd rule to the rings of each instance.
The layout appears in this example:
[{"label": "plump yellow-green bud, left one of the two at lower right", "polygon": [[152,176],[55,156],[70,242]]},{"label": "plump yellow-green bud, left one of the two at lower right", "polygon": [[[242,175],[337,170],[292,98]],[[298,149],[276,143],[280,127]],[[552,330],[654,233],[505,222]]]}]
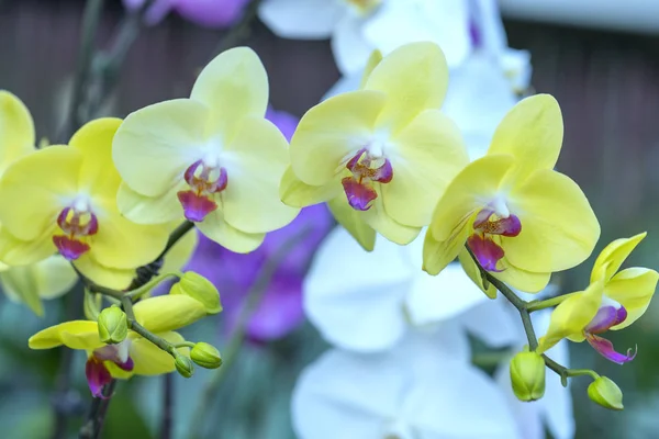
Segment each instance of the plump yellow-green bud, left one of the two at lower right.
[{"label": "plump yellow-green bud, left one of the two at lower right", "polygon": [[511,360],[511,382],[520,401],[536,401],[545,394],[545,360],[537,352],[520,352]]}]

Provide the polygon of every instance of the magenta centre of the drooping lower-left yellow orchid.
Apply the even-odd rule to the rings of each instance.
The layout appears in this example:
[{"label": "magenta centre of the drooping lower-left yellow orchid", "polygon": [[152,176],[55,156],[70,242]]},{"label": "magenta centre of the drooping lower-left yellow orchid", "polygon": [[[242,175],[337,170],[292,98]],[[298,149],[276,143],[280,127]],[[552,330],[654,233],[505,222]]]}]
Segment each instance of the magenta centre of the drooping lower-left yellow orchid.
[{"label": "magenta centre of the drooping lower-left yellow orchid", "polygon": [[129,356],[129,340],[124,340],[119,345],[108,345],[96,349],[87,359],[85,365],[85,374],[87,375],[87,384],[91,394],[96,397],[104,398],[103,386],[112,381],[112,374],[105,367],[105,362],[110,361],[118,368],[131,372],[134,368],[133,359]]}]

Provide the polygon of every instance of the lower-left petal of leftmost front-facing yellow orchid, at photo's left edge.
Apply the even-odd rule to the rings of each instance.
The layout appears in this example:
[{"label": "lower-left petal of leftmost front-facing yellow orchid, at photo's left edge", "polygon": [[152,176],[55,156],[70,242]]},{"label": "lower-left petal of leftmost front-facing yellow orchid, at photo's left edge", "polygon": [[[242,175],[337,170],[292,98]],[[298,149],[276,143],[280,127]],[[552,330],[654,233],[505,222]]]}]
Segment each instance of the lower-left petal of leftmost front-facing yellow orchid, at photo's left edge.
[{"label": "lower-left petal of leftmost front-facing yellow orchid, at photo's left edge", "polygon": [[0,228],[0,260],[8,266],[26,266],[48,258],[57,252],[53,244],[55,223],[46,228],[34,240],[21,240],[7,230]]}]

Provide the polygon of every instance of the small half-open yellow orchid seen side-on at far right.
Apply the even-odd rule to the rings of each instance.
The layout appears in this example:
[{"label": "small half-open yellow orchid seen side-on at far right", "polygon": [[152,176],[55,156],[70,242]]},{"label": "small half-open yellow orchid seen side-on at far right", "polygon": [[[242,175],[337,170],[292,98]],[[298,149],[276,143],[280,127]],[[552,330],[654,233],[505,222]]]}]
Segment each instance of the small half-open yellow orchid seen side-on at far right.
[{"label": "small half-open yellow orchid seen side-on at far right", "polygon": [[618,269],[646,233],[616,239],[597,257],[591,273],[591,284],[566,299],[551,314],[547,335],[540,339],[538,351],[544,352],[562,338],[587,340],[597,352],[616,363],[636,356],[616,352],[613,344],[599,334],[626,328],[648,308],[655,294],[659,273],[647,268]]}]

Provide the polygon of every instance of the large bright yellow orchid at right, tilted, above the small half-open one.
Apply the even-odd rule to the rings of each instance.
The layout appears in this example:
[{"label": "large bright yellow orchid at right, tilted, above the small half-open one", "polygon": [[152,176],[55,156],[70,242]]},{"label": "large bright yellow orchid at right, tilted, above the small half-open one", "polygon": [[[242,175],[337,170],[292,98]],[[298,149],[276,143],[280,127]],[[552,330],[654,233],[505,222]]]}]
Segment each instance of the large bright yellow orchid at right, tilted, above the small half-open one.
[{"label": "large bright yellow orchid at right, tilted, above the small half-open one", "polygon": [[554,271],[590,256],[597,218],[579,185],[552,170],[562,132],[548,94],[524,99],[505,115],[488,154],[456,176],[435,207],[424,245],[428,273],[439,273],[467,244],[498,279],[538,292]]}]

